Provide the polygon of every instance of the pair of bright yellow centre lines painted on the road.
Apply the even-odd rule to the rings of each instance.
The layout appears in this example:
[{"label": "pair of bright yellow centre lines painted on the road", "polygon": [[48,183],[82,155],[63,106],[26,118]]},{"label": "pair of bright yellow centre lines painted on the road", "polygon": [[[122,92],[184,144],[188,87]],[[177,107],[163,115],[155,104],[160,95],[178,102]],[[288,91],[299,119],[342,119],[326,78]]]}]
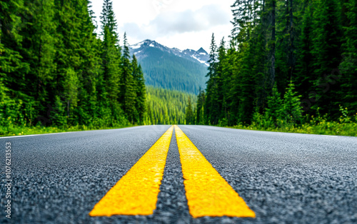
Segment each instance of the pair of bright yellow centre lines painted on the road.
[{"label": "pair of bright yellow centre lines painted on the road", "polygon": [[193,218],[223,215],[252,218],[256,216],[178,126],[171,126],[104,195],[89,215],[154,213],[174,127],[188,209]]}]

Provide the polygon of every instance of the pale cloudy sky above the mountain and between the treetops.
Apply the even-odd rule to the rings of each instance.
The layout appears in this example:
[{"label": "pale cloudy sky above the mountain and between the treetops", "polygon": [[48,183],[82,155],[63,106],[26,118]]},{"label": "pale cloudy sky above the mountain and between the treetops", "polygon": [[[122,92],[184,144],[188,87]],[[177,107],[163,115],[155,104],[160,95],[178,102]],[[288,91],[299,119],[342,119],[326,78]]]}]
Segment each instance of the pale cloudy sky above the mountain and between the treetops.
[{"label": "pale cloudy sky above the mountain and between the treetops", "polygon": [[[209,51],[212,33],[216,44],[231,34],[233,0],[114,0],[113,8],[122,43],[124,31],[129,44],[151,39],[178,49]],[[92,0],[100,24],[103,0]]]}]

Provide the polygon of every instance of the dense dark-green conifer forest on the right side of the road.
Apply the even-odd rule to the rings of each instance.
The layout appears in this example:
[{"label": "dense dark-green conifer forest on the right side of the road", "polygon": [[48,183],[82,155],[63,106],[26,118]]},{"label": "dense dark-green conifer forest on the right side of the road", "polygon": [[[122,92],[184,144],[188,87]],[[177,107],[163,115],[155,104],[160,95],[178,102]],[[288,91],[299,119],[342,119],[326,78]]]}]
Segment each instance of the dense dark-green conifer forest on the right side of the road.
[{"label": "dense dark-green conifer forest on the right side of the road", "polygon": [[212,35],[195,123],[357,118],[357,1],[236,0],[231,7],[231,39],[217,46]]}]

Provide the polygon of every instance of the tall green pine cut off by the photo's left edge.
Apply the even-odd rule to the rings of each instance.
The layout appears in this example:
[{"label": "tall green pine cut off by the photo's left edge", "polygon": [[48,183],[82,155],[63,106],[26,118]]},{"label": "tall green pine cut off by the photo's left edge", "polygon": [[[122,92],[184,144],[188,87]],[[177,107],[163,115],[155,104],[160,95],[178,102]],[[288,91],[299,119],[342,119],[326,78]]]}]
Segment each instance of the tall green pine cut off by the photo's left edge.
[{"label": "tall green pine cut off by the photo's left edge", "polygon": [[21,110],[33,101],[25,91],[29,63],[21,55],[24,1],[0,1],[0,6],[0,126],[31,125],[36,111]]}]

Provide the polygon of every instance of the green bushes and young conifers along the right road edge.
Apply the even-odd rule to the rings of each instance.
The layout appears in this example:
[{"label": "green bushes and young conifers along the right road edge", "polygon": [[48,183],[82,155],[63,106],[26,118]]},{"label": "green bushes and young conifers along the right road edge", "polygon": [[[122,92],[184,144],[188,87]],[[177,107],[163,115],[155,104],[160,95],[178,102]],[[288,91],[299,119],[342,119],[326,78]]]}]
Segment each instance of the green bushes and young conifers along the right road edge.
[{"label": "green bushes and young conifers along the right road edge", "polygon": [[[357,113],[349,116],[348,108],[339,105],[341,116],[337,121],[328,114],[320,115],[320,108],[317,108],[316,115],[305,114],[301,106],[301,96],[294,92],[291,83],[283,98],[278,94],[276,86],[273,87],[271,96],[268,96],[267,107],[264,113],[256,111],[253,114],[253,121],[249,125],[238,123],[233,128],[260,130],[260,131],[281,131],[291,133],[310,133],[336,136],[357,136]],[[226,126],[221,122],[218,125]]]}]

